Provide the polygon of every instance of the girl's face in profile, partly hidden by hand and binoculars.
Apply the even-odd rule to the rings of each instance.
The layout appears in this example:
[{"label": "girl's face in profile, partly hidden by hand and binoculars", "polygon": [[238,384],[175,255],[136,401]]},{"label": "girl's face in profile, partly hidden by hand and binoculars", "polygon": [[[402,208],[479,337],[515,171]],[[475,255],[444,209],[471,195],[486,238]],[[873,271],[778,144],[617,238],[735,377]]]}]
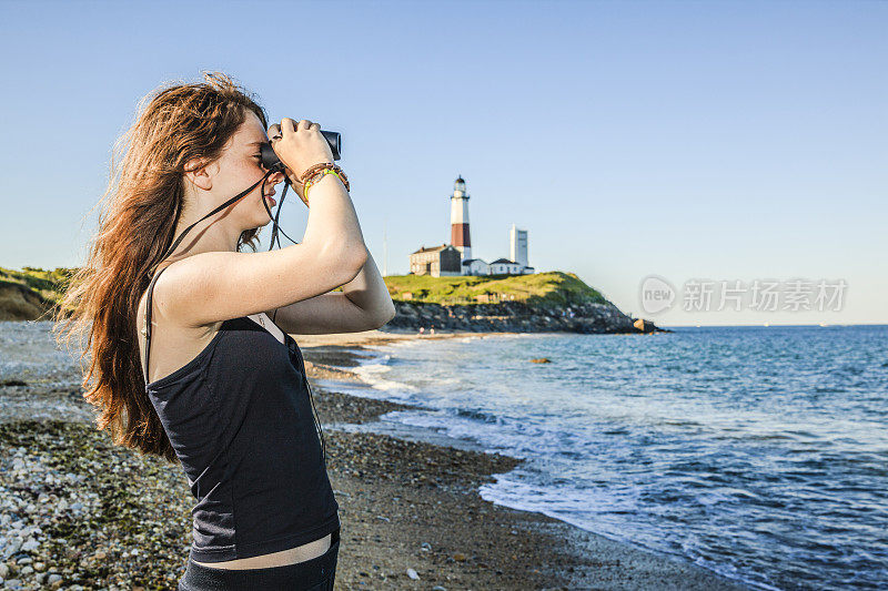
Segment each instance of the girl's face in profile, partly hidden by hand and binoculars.
[{"label": "girl's face in profile, partly hidden by hand and binoculars", "polygon": [[[269,141],[269,135],[262,126],[255,113],[246,111],[244,122],[231,136],[229,143],[222,150],[222,155],[216,161],[213,175],[213,188],[215,201],[219,204],[230,200],[241,191],[245,190],[268,172],[262,166],[259,147]],[[262,195],[262,184],[256,186],[249,195],[236,202],[233,214],[242,220],[242,230],[264,226],[271,218],[262,200],[271,210],[276,202],[272,198],[275,194],[274,185],[284,180],[283,174],[274,173],[265,182],[265,196]]]}]

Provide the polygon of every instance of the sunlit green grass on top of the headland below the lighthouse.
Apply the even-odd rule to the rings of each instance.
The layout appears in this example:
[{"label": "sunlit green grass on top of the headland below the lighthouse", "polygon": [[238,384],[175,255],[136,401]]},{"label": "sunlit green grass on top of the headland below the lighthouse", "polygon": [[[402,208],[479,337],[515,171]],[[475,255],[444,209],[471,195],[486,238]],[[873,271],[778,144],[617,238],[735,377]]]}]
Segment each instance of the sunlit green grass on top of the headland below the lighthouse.
[{"label": "sunlit green grass on top of the headland below the lighthouse", "polygon": [[[532,275],[487,275],[432,277],[428,275],[389,275],[385,285],[392,299],[442,305],[477,304],[476,296],[498,294],[500,300],[513,297],[531,306],[561,307],[571,304],[606,304],[598,291],[574,273],[553,271]],[[406,299],[405,293],[413,298]]]}]

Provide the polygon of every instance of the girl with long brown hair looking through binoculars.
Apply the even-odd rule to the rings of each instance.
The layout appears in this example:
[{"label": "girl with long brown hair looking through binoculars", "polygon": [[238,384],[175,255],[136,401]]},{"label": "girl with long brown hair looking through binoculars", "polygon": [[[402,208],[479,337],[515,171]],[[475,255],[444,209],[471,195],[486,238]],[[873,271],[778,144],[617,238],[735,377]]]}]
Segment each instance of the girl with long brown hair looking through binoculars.
[{"label": "girl with long brown hair looking through binoculars", "polygon": [[[377,328],[394,305],[320,125],[266,133],[240,86],[204,78],[143,102],[56,319],[89,334],[99,429],[184,469],[180,589],[333,589],[339,506],[290,333]],[[301,243],[256,253],[284,180],[262,166],[269,135],[310,213]]]}]

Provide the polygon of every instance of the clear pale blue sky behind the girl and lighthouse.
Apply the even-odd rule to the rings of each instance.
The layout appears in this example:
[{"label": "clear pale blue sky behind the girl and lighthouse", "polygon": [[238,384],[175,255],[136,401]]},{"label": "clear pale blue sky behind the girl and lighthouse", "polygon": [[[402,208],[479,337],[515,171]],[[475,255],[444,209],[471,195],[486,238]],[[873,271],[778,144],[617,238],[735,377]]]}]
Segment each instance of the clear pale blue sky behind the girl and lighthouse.
[{"label": "clear pale blue sky behind the girl and lighthouse", "polygon": [[625,312],[649,274],[844,278],[841,312],[655,318],[885,323],[886,30],[886,2],[4,2],[0,266],[79,265],[137,101],[222,70],[342,132],[390,274],[450,241],[462,174],[474,256],[515,223]]}]

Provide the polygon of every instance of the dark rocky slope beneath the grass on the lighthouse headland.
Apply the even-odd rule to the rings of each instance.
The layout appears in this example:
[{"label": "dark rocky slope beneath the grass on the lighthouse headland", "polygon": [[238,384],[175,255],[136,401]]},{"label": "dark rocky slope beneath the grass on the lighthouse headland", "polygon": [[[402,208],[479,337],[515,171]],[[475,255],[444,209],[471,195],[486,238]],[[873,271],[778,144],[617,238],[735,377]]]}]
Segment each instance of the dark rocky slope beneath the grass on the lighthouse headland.
[{"label": "dark rocky slope beneath the grass on the lighthouse headland", "polygon": [[504,332],[504,333],[650,333],[660,330],[645,322],[644,329],[634,318],[613,304],[578,304],[562,308],[533,307],[518,302],[442,306],[395,302],[397,314],[382,329]]}]

